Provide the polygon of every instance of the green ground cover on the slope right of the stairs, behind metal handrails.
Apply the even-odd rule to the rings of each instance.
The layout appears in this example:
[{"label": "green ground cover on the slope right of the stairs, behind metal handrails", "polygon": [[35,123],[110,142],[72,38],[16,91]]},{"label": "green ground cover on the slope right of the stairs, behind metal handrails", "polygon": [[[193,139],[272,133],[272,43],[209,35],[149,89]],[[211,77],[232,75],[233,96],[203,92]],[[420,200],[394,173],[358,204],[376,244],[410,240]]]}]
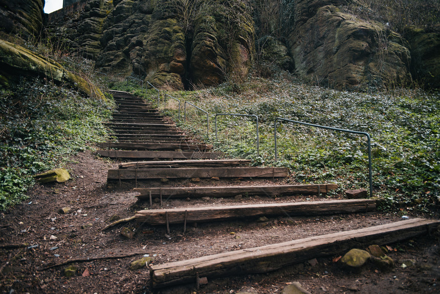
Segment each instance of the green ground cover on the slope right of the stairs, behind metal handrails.
[{"label": "green ground cover on the slope right of the stairs, behind metal handrails", "polygon": [[[374,196],[382,209],[426,210],[440,197],[440,94],[419,90],[354,93],[304,86],[287,79],[249,79],[240,85],[171,93],[210,113],[211,143],[254,164],[287,166],[301,183],[335,182],[337,193],[369,188],[365,136],[278,122],[278,162],[274,161],[274,120],[283,117],[367,132],[372,138]],[[177,118],[177,111],[168,110]],[[251,118],[218,118],[215,113],[258,115],[260,156]],[[206,132],[206,116],[187,120]]]}]

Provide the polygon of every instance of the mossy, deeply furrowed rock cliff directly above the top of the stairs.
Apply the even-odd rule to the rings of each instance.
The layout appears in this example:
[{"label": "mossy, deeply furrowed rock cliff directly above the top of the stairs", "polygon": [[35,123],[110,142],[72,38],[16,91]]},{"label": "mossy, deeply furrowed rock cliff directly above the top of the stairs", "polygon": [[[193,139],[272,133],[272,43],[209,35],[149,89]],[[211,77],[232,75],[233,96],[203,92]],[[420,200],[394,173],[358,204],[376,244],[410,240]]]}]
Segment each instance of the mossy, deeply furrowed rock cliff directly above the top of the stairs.
[{"label": "mossy, deeply furrowed rock cliff directly above the top of the stairs", "polygon": [[248,73],[254,50],[249,7],[238,0],[95,0],[57,30],[69,32],[72,46],[103,71],[183,89],[216,85],[232,71]]}]

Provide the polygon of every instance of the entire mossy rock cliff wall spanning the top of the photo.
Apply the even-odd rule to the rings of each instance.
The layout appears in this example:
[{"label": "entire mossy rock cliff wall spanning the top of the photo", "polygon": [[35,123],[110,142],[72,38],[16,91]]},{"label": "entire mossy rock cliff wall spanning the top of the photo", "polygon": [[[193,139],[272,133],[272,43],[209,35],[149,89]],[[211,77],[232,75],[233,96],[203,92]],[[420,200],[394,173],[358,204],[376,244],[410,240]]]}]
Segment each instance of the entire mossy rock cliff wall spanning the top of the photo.
[{"label": "entire mossy rock cliff wall spanning the top of the photo", "polygon": [[[11,3],[0,0],[2,30],[36,35],[43,1]],[[90,0],[49,27],[71,51],[96,60],[101,71],[142,76],[158,86],[240,79],[258,59],[334,88],[393,87],[414,79],[440,87],[440,30],[409,28],[403,36],[380,19],[347,10],[368,11],[364,5],[356,0]]]}]

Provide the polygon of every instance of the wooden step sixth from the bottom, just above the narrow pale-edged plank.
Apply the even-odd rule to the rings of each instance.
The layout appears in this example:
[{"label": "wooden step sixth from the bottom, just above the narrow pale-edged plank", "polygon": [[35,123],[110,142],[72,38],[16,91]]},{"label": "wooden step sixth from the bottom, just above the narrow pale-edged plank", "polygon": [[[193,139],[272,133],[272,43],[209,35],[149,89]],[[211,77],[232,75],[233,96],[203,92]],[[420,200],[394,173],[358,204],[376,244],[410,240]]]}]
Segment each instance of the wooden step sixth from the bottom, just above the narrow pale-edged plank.
[{"label": "wooden step sixth from the bottom, just above the narrow pale-edged plank", "polygon": [[96,154],[108,158],[123,159],[214,159],[222,157],[216,152],[185,152],[185,151],[131,151],[131,150],[97,150]]}]

